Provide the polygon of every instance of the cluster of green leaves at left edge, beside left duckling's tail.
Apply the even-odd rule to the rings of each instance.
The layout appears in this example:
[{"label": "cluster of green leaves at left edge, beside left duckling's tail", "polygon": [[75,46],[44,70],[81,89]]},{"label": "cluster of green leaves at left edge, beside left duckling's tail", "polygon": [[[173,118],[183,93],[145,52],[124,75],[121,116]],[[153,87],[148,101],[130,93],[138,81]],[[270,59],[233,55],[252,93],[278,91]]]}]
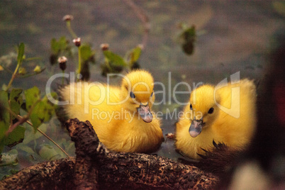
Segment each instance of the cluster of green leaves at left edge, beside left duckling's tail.
[{"label": "cluster of green leaves at left edge, beside left duckling's tail", "polygon": [[[51,104],[50,101],[45,96],[40,99],[40,90],[38,87],[34,86],[31,89],[24,91],[26,98],[26,110],[30,114],[30,121],[33,123],[33,128],[36,130],[42,123],[47,122],[55,114],[55,105]],[[18,121],[16,115],[20,113],[21,106],[23,104],[23,90],[22,89],[12,89],[10,93],[6,91],[0,91],[1,102],[4,103],[4,107],[9,108],[11,113],[7,110],[1,115],[0,121],[0,139],[1,139],[1,150],[3,146],[12,147],[23,141],[25,135],[25,128],[20,125],[16,126],[11,133],[6,135],[9,126],[13,125]],[[8,96],[10,105],[8,104]],[[56,94],[52,93],[51,96],[56,99]],[[16,121],[14,121],[16,119]]]}]

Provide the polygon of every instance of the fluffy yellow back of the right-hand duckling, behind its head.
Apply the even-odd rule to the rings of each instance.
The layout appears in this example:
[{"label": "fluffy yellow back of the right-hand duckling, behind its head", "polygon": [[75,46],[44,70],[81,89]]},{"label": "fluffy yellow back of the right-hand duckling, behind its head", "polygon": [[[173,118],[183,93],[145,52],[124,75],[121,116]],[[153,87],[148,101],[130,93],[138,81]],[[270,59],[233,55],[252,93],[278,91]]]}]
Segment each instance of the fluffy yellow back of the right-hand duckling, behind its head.
[{"label": "fluffy yellow back of the right-hand duckling, behind its head", "polygon": [[220,114],[213,131],[218,141],[231,147],[245,147],[255,132],[256,88],[255,84],[242,79],[216,91],[220,95]]}]

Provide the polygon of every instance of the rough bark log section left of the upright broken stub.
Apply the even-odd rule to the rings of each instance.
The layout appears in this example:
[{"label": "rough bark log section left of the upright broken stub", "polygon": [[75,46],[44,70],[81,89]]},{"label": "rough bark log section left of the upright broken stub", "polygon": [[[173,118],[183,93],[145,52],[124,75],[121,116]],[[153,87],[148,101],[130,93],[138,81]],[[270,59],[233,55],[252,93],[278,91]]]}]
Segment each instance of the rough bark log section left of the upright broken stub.
[{"label": "rough bark log section left of the upright broken stub", "polygon": [[72,189],[74,158],[43,162],[0,181],[0,189]]}]

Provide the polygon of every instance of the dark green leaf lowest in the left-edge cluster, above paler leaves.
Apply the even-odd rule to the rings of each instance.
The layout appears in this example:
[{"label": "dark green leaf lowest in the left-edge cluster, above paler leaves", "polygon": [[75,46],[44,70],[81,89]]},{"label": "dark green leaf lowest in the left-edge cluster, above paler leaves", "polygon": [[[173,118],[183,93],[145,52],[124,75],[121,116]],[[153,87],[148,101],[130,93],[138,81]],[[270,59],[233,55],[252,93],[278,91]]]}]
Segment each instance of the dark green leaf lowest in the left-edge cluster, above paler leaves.
[{"label": "dark green leaf lowest in the left-edge cluster, above paler leaves", "polygon": [[4,138],[4,145],[13,147],[18,143],[22,143],[23,138],[25,137],[25,131],[26,128],[19,125],[11,133],[9,133],[8,137]]}]

